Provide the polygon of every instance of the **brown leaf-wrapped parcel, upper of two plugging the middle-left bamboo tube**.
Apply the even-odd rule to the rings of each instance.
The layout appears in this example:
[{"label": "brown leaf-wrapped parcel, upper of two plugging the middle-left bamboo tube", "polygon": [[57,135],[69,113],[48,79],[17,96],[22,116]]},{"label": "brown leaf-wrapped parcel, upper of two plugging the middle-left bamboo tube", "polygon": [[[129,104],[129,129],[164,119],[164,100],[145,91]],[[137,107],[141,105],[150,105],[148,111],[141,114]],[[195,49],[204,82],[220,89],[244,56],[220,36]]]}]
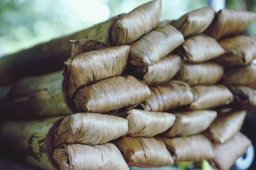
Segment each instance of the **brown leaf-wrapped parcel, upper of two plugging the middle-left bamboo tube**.
[{"label": "brown leaf-wrapped parcel, upper of two plugging the middle-left bamboo tube", "polygon": [[122,45],[84,52],[64,64],[63,91],[67,102],[81,86],[120,75],[127,64],[130,47]]}]

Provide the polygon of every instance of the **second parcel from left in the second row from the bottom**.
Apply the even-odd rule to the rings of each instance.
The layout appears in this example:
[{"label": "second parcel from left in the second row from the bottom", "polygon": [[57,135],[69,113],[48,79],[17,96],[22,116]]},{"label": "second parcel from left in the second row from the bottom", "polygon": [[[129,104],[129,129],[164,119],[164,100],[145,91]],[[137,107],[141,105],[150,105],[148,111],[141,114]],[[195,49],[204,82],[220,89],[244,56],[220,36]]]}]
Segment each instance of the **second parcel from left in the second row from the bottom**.
[{"label": "second parcel from left in the second row from the bottom", "polygon": [[132,137],[153,137],[168,130],[175,122],[175,115],[168,112],[129,109],[125,113],[128,120],[127,135]]}]

